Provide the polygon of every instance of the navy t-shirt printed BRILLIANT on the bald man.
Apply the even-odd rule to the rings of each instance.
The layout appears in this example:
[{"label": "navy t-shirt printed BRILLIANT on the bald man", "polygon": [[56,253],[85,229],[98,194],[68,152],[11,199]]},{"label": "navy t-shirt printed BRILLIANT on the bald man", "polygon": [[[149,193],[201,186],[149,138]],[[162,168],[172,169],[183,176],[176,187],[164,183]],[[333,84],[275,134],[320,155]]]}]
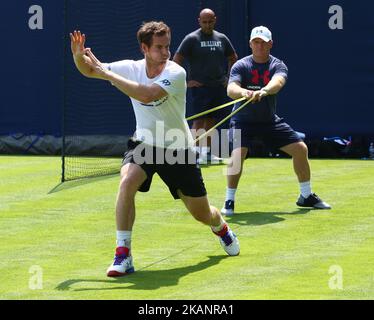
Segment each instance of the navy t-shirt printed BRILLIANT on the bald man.
[{"label": "navy t-shirt printed BRILLIANT on the bald man", "polygon": [[222,85],[227,78],[226,58],[235,53],[230,40],[218,31],[207,35],[198,29],[188,34],[177,49],[189,62],[189,80],[206,86]]}]

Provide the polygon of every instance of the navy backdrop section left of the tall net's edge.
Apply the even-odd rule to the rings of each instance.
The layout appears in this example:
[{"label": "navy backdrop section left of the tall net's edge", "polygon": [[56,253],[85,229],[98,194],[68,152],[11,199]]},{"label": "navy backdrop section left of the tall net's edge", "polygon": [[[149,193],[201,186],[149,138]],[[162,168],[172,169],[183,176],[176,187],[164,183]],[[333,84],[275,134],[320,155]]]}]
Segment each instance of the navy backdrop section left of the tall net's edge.
[{"label": "navy backdrop section left of the tall net's edge", "polygon": [[63,6],[48,0],[1,4],[0,135],[61,134]]}]

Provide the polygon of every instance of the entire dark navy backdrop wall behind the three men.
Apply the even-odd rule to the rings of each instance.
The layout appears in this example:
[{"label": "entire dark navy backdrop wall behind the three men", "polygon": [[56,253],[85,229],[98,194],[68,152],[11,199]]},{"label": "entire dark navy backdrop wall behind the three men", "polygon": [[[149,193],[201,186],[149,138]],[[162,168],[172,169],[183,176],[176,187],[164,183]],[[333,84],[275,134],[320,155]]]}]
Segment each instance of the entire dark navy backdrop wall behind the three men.
[{"label": "entire dark navy backdrop wall behind the three men", "polygon": [[[33,5],[43,10],[41,29]],[[329,28],[332,5],[343,9],[342,30]],[[67,134],[131,134],[129,99],[77,72],[66,31],[84,31],[87,45],[102,61],[138,59],[136,30],[142,21],[160,19],[173,30],[173,54],[184,35],[198,27],[204,7],[216,11],[217,30],[230,37],[240,57],[249,53],[250,28],[263,24],[272,29],[273,54],[289,67],[278,113],[296,130],[308,137],[374,136],[374,3],[364,0],[7,1],[0,135],[61,135],[64,97]]]}]

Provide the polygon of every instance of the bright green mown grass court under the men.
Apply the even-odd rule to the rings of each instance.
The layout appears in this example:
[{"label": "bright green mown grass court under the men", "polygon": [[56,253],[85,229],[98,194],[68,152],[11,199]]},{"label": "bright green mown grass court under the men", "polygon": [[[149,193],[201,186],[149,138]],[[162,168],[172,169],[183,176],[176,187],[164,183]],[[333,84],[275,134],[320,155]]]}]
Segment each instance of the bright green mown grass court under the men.
[{"label": "bright green mown grass court under the men", "polygon": [[[115,246],[118,176],[58,186],[57,157],[0,157],[0,299],[374,299],[374,161],[312,160],[313,190],[333,209],[301,210],[289,159],[249,159],[227,218],[241,253],[155,177],[137,195],[136,273],[105,275]],[[221,207],[224,166],[203,169]],[[57,188],[56,188],[57,186]],[[39,290],[29,286],[42,270]],[[341,268],[342,289],[329,287]]]}]

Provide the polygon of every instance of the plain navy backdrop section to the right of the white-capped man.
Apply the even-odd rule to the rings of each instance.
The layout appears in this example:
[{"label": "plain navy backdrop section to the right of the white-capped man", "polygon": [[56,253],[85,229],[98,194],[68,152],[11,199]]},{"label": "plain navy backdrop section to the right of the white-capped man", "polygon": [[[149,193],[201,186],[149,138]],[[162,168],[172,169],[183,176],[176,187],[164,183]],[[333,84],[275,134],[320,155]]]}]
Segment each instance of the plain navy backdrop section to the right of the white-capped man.
[{"label": "plain navy backdrop section to the right of the white-capped man", "polygon": [[[278,113],[307,136],[374,136],[374,3],[250,1],[250,27],[273,31],[273,54],[289,67]],[[329,8],[343,10],[343,29]],[[334,7],[332,8],[334,9]]]}]

